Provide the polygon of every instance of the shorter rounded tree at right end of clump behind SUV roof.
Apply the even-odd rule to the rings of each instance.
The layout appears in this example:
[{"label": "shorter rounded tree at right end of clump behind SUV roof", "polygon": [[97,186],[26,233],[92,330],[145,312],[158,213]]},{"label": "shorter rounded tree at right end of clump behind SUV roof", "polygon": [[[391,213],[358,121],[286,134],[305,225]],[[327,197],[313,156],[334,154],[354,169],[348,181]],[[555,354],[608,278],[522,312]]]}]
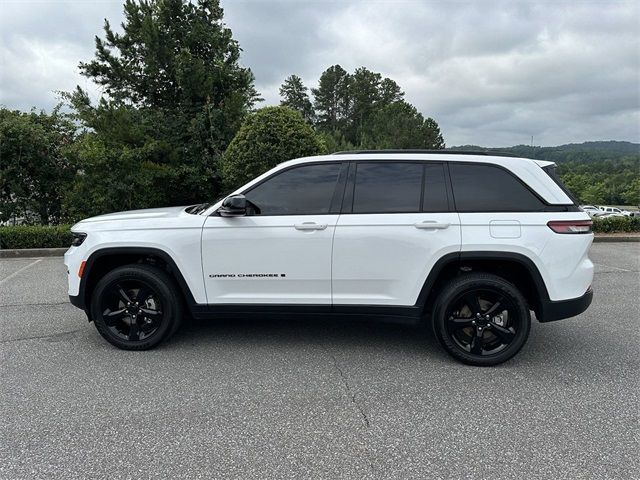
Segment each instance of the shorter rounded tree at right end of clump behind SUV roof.
[{"label": "shorter rounded tree at right end of clump behind SUV roof", "polygon": [[373,114],[364,129],[363,146],[372,149],[445,147],[438,124],[426,120],[406,102],[395,102]]}]

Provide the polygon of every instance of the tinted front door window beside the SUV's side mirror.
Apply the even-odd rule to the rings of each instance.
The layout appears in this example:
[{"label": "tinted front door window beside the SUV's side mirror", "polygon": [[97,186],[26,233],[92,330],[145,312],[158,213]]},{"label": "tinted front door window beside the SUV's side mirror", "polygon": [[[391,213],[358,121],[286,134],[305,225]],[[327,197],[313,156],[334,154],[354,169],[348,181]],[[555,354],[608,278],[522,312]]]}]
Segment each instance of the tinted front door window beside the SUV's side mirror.
[{"label": "tinted front door window beside the SUV's side mirror", "polygon": [[260,215],[329,213],[339,174],[339,163],[292,168],[271,177],[245,196],[260,209]]}]

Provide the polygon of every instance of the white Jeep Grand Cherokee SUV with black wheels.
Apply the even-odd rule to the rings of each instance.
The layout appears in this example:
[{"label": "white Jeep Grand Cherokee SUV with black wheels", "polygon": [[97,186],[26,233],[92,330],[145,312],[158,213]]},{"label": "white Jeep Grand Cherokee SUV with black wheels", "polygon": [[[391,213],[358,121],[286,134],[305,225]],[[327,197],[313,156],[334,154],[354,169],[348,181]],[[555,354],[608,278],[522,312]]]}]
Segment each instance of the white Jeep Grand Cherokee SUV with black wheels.
[{"label": "white Jeep Grand Cherokee SUV with black wheels", "polygon": [[282,163],[215,204],[74,225],[71,302],[117,347],[195,318],[427,319],[459,360],[493,365],[541,322],[591,303],[591,220],[551,162],[361,151]]}]

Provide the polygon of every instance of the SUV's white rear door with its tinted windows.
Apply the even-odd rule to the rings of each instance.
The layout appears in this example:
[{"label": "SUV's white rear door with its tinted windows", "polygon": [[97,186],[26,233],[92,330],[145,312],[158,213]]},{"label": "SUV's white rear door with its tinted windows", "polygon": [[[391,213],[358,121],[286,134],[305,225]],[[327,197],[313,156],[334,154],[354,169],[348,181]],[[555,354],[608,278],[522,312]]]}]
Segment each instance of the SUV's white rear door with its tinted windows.
[{"label": "SUV's white rear door with its tinted windows", "polygon": [[440,162],[354,161],[333,244],[334,305],[416,303],[434,263],[460,250]]}]

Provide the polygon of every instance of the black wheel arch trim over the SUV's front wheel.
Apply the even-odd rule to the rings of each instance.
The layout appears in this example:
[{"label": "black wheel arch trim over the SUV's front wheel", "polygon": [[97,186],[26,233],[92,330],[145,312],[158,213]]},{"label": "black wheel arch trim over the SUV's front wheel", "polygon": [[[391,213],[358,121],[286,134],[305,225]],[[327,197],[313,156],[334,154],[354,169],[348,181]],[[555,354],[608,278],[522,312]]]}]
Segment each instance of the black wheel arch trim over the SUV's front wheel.
[{"label": "black wheel arch trim over the SUV's front wheel", "polygon": [[157,265],[165,270],[178,284],[188,307],[195,305],[195,299],[180,268],[173,257],[164,250],[154,247],[107,247],[96,250],[86,260],[78,298],[80,308],[89,315],[91,294],[102,276],[114,268],[131,263]]}]

